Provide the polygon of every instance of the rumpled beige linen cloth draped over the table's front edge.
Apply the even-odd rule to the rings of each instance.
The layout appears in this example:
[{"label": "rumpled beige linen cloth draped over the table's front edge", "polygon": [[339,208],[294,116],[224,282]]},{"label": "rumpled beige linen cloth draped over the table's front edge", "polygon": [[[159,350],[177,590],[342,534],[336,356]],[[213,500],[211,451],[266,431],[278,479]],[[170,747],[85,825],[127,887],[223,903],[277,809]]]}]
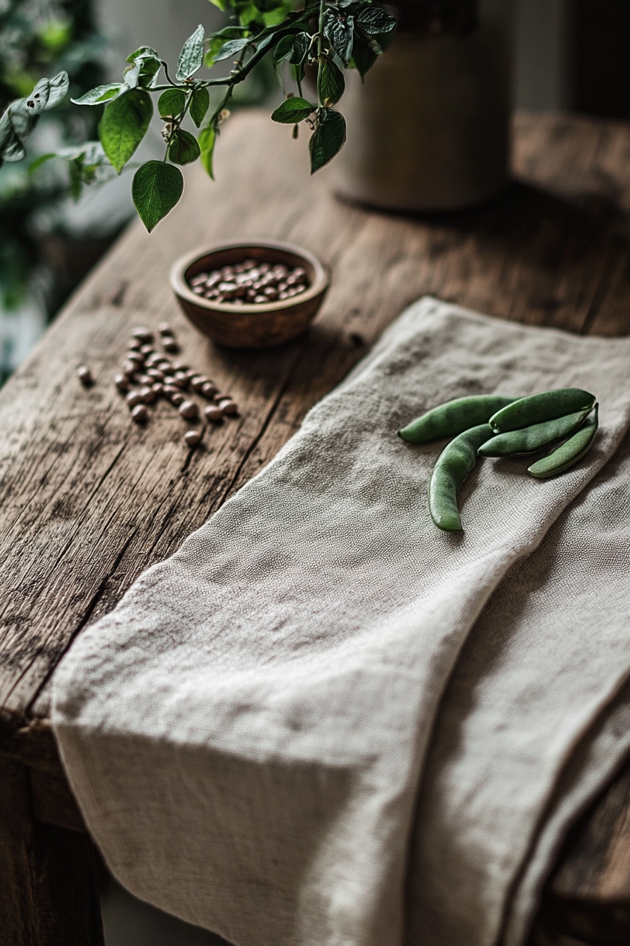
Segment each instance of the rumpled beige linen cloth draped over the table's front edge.
[{"label": "rumpled beige linen cloth draped over the table's front edge", "polygon": [[[519,946],[630,742],[629,364],[422,299],[82,632],[52,720],[124,885],[237,946]],[[439,447],[396,430],[565,386],[601,403],[587,458],[480,462],[437,530]]]}]

